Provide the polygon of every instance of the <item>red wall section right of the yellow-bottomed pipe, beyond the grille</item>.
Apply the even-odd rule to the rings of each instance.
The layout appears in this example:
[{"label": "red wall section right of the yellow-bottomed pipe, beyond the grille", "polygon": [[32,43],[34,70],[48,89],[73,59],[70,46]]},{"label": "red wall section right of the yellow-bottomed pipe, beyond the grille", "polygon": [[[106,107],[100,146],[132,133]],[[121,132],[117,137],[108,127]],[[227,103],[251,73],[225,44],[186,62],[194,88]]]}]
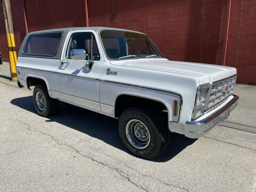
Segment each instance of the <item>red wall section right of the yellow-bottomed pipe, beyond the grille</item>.
[{"label": "red wall section right of the yellow-bottomed pipe, beyond the grille", "polygon": [[237,68],[239,83],[256,85],[256,1],[231,5],[227,66]]}]

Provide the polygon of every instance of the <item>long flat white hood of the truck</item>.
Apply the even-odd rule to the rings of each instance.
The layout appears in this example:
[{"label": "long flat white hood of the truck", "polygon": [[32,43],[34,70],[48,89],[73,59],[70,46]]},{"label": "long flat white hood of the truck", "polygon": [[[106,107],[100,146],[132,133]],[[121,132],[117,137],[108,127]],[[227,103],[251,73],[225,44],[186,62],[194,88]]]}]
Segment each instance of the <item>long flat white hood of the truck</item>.
[{"label": "long flat white hood of the truck", "polygon": [[165,71],[198,78],[200,84],[212,83],[236,74],[236,68],[167,59],[132,59],[111,61],[113,65]]}]

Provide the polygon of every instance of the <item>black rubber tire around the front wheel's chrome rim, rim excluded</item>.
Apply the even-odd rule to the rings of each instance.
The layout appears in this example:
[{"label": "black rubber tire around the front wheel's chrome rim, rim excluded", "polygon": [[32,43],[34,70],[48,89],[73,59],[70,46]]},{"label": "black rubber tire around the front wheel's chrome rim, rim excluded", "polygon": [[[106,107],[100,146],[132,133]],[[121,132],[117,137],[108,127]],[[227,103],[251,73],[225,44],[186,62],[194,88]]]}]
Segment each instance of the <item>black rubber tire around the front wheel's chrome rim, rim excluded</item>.
[{"label": "black rubber tire around the front wheel's chrome rim, rim excluded", "polygon": [[[149,130],[150,143],[144,149],[134,147],[126,136],[126,125],[132,121],[132,119],[138,119],[140,122],[143,122]],[[158,123],[157,118],[143,108],[131,107],[126,109],[119,118],[118,130],[125,147],[127,147],[133,154],[142,158],[156,158],[167,148],[167,146],[169,146],[170,139],[164,138],[162,134],[162,126]]]}]

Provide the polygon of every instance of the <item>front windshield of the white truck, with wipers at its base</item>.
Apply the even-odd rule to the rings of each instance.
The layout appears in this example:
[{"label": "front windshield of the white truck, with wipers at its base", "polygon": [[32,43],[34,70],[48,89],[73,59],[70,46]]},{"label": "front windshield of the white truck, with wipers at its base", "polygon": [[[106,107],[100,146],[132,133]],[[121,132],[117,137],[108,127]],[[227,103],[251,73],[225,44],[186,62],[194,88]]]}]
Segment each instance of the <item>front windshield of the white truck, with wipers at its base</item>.
[{"label": "front windshield of the white truck, with wipers at its base", "polygon": [[100,37],[111,60],[162,58],[148,36],[130,31],[102,30]]}]

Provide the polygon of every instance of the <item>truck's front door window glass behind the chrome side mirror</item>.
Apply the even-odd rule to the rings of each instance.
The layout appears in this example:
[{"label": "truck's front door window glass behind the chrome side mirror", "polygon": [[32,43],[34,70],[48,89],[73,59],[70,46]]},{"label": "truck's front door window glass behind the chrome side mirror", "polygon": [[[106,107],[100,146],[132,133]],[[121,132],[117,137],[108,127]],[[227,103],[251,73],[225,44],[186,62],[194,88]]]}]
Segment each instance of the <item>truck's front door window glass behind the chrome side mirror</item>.
[{"label": "truck's front door window glass behind the chrome side mirror", "polygon": [[[90,59],[92,58],[93,61],[100,60],[100,53],[97,42],[92,33],[75,33],[70,37],[66,52],[67,59],[71,59],[70,51],[72,49],[84,49],[86,54],[89,54]],[[88,58],[86,57],[85,60],[87,59]]]}]

